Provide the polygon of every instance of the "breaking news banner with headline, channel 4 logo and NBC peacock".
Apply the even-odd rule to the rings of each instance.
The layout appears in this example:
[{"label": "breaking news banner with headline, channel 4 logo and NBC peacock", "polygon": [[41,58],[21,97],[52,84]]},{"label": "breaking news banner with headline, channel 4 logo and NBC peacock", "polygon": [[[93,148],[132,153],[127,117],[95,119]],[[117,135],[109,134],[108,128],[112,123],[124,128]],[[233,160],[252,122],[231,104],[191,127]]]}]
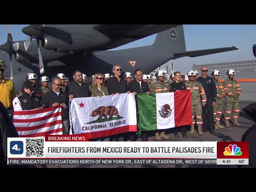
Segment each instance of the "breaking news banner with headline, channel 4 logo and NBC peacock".
[{"label": "breaking news banner with headline, channel 4 logo and NBC peacock", "polygon": [[78,135],[8,138],[8,164],[248,164],[248,142],[86,142]]}]

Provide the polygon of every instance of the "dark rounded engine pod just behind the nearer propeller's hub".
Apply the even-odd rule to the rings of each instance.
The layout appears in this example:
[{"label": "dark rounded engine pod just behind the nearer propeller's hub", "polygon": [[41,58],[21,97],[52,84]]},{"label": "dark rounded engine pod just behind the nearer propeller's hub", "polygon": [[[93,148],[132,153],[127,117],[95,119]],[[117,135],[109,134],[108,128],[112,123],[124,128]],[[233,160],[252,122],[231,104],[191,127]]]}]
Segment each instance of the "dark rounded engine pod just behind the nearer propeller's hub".
[{"label": "dark rounded engine pod just behind the nearer propeller's hub", "polygon": [[42,47],[48,50],[57,50],[58,48],[62,49],[72,46],[72,42],[68,43],[52,37],[46,37],[41,42]]}]

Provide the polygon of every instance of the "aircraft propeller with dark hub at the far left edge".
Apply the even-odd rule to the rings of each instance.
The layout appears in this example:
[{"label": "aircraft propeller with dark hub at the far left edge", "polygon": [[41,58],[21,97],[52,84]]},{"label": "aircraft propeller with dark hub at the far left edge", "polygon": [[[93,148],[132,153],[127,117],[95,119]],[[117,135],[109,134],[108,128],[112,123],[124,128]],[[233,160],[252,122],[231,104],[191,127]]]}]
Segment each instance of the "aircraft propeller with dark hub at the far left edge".
[{"label": "aircraft propeller with dark hub at the far left edge", "polygon": [[12,54],[15,54],[15,52],[19,50],[20,43],[12,42],[13,39],[12,39],[12,34],[11,34],[11,30],[10,30],[10,26],[9,25],[7,26],[7,29],[8,29],[7,42],[5,44],[0,45],[0,49],[9,54],[9,58],[10,58],[10,71],[11,71],[10,79],[12,80],[13,79]]}]

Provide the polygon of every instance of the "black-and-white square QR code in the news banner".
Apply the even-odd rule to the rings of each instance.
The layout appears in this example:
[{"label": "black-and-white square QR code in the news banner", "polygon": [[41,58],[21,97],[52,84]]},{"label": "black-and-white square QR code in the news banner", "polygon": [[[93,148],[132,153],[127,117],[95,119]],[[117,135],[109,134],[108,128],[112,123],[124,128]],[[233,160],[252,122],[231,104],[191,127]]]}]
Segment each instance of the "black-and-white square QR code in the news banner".
[{"label": "black-and-white square QR code in the news banner", "polygon": [[43,157],[44,139],[26,139],[26,157]]}]

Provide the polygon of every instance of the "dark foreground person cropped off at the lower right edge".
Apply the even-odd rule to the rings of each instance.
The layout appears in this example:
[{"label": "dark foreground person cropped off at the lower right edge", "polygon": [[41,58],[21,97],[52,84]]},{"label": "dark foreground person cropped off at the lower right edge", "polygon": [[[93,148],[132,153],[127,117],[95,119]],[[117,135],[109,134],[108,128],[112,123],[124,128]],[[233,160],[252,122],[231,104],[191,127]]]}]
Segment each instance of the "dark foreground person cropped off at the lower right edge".
[{"label": "dark foreground person cropped off at the lower right edge", "polygon": [[[256,102],[242,109],[256,122]],[[249,142],[249,165],[240,165],[238,168],[256,168],[256,124],[250,127],[242,136],[241,141]]]}]

